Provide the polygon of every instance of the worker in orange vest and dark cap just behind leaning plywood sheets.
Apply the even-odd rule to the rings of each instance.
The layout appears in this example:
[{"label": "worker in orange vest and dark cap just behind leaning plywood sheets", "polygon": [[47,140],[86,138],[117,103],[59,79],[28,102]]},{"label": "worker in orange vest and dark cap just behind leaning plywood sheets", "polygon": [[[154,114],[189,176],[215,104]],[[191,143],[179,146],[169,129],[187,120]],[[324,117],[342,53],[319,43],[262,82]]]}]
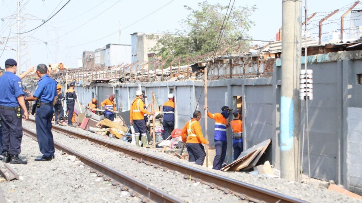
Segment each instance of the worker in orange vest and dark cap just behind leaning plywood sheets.
[{"label": "worker in orange vest and dark cap just behind leaning plywood sheets", "polygon": [[235,109],[232,114],[234,120],[230,121],[232,128],[232,148],[234,149],[234,161],[243,152],[243,121],[241,120],[241,111]]}]

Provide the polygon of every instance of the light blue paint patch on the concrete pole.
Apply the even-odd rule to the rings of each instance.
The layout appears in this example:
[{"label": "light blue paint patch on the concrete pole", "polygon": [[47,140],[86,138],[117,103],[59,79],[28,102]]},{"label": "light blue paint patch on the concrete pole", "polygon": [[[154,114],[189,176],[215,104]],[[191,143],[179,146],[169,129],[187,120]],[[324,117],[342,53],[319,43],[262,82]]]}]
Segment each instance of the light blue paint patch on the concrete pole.
[{"label": "light blue paint patch on the concrete pole", "polygon": [[294,115],[292,98],[282,96],[280,105],[280,149],[290,150],[293,146]]}]

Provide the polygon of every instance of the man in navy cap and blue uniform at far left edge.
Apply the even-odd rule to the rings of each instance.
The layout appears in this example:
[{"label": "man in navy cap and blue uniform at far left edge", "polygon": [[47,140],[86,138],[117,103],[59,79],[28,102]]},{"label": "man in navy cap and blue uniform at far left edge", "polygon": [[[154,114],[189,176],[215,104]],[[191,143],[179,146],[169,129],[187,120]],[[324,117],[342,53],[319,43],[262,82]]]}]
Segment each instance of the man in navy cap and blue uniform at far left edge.
[{"label": "man in navy cap and blue uniform at far left edge", "polygon": [[0,77],[0,87],[3,90],[3,94],[0,94],[0,118],[3,128],[1,150],[5,163],[27,164],[28,161],[19,158],[22,139],[21,109],[25,120],[28,120],[29,113],[26,111],[21,79],[15,75],[16,66],[17,62],[14,59],[6,60],[6,72]]}]

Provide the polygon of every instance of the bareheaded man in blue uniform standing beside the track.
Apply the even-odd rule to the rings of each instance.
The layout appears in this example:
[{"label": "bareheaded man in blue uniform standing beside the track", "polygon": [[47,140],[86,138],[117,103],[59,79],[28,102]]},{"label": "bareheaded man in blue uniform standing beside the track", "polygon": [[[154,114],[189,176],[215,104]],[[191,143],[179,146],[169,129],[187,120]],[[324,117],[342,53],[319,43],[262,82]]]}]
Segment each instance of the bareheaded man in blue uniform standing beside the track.
[{"label": "bareheaded man in blue uniform standing beside the track", "polygon": [[50,161],[54,159],[55,150],[53,134],[51,132],[51,120],[53,119],[57,83],[48,76],[47,70],[45,64],[39,64],[37,66],[36,74],[40,78],[38,80],[38,86],[33,96],[25,98],[27,101],[37,100],[35,125],[37,128],[39,149],[43,156],[36,158],[35,161]]}]

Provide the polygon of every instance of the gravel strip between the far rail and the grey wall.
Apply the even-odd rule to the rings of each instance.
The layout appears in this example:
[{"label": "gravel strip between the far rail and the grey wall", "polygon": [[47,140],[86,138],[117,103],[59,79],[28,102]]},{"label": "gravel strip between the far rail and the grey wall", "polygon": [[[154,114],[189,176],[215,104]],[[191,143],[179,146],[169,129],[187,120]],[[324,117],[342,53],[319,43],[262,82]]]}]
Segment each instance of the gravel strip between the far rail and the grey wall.
[{"label": "gravel strip between the far rail and the grey wall", "polygon": [[[34,126],[33,122],[28,121],[28,122],[23,122],[23,123],[24,124],[28,123],[30,126]],[[327,190],[328,185],[325,185],[325,184],[312,183],[312,185],[308,185],[305,183],[287,181],[282,178],[266,178],[262,175],[251,175],[251,174],[244,173],[244,172],[222,172],[219,170],[213,170],[213,169],[209,169],[206,167],[201,167],[194,163],[190,163],[188,161],[178,159],[177,157],[175,157],[173,155],[160,153],[159,151],[156,151],[154,149],[136,147],[134,145],[131,145],[130,143],[124,142],[119,139],[102,137],[101,135],[94,134],[94,133],[91,133],[87,130],[83,130],[80,128],[72,128],[69,126],[61,126],[61,127],[68,129],[68,130],[76,131],[78,133],[87,134],[87,135],[91,135],[93,137],[104,139],[109,142],[117,143],[122,146],[135,148],[137,150],[147,152],[148,154],[163,157],[165,159],[173,160],[178,163],[185,164],[185,165],[190,165],[192,167],[203,169],[203,170],[206,170],[206,171],[209,171],[209,172],[212,172],[215,174],[219,174],[222,176],[230,177],[235,180],[239,180],[239,181],[242,181],[245,183],[259,186],[259,187],[262,187],[262,188],[265,188],[268,190],[272,190],[272,191],[275,191],[275,192],[278,192],[281,194],[290,195],[294,198],[302,199],[302,200],[305,200],[308,202],[362,202],[360,200],[349,198],[348,196],[345,196],[345,195],[342,195],[342,194],[339,194],[339,193],[336,193],[333,191],[328,191]],[[55,140],[58,141],[58,138],[56,136],[55,136]],[[77,139],[76,141],[74,140],[73,142],[80,142],[80,140]],[[117,153],[117,152],[113,152],[113,153]],[[193,190],[193,191],[195,191],[195,190]]]}]

